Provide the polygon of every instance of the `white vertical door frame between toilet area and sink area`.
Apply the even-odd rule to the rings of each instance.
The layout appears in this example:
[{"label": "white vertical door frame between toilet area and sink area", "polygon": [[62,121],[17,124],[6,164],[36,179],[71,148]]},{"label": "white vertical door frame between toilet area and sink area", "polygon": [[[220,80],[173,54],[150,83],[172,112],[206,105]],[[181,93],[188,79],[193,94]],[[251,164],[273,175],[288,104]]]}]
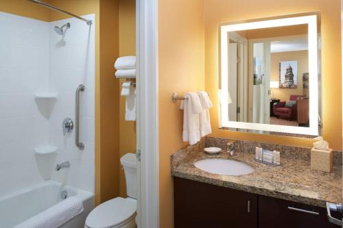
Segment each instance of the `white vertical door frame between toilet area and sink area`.
[{"label": "white vertical door frame between toilet area and sink area", "polygon": [[137,0],[137,162],[139,228],[159,227],[158,0]]}]

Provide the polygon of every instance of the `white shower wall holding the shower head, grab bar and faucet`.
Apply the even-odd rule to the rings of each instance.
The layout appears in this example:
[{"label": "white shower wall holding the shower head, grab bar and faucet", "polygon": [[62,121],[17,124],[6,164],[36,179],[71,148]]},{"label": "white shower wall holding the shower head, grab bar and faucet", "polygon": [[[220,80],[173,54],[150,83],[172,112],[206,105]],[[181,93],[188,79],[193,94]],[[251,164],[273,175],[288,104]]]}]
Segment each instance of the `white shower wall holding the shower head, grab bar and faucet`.
[{"label": "white shower wall holding the shower head, grab bar and faucet", "polygon": [[[85,16],[94,21],[93,15]],[[64,38],[54,26],[70,23]],[[70,18],[50,23],[49,91],[58,92],[58,100],[49,121],[49,144],[58,147],[57,162],[69,161],[69,170],[54,172],[53,179],[68,185],[94,191],[95,183],[95,23]],[[62,45],[61,45],[62,44]],[[85,149],[75,146],[75,131],[63,136],[61,123],[69,117],[75,121],[75,90],[84,84],[81,94],[80,139]]]}]

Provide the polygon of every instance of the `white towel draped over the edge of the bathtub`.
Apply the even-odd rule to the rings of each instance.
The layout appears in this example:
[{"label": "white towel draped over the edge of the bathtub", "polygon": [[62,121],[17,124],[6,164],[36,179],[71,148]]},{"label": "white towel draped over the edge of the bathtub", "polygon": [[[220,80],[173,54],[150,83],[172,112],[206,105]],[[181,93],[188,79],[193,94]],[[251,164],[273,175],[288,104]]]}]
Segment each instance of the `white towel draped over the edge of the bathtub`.
[{"label": "white towel draped over the edge of the bathtub", "polygon": [[14,228],[57,228],[81,214],[83,210],[84,206],[80,199],[69,197]]}]

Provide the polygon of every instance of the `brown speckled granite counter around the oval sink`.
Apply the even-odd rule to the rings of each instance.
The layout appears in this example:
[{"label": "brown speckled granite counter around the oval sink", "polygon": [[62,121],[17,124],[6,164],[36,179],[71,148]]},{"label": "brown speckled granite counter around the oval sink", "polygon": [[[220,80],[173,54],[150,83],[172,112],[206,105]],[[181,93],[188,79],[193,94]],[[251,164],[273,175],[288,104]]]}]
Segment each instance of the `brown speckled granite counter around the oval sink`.
[{"label": "brown speckled granite counter around the oval sink", "polygon": [[[213,142],[213,139],[215,142]],[[205,138],[198,144],[171,155],[171,175],[320,207],[325,207],[327,201],[341,202],[342,166],[340,164],[334,165],[331,173],[311,170],[308,155],[304,155],[306,151],[300,151],[298,155],[294,156],[291,153],[292,149],[288,150],[289,153],[281,153],[281,166],[261,164],[255,161],[255,153],[252,153],[251,147],[254,145],[250,144],[250,147],[242,147],[242,144],[244,144],[242,141],[237,141],[235,144],[237,153],[233,156],[228,155],[226,152],[219,155],[208,155],[203,152],[205,144],[206,147],[220,147],[223,140]],[[224,141],[226,142],[226,140]],[[271,147],[270,145],[269,147]],[[268,147],[268,145],[264,146],[263,148]],[[244,148],[246,148],[246,151]],[[255,151],[255,147],[253,148]],[[281,149],[279,151],[282,151]],[[287,151],[287,149],[285,150]],[[340,155],[336,156],[339,157]],[[197,160],[209,157],[245,162],[255,168],[255,171],[242,176],[215,175],[200,170],[193,165]],[[341,161],[338,162],[341,163]]]}]

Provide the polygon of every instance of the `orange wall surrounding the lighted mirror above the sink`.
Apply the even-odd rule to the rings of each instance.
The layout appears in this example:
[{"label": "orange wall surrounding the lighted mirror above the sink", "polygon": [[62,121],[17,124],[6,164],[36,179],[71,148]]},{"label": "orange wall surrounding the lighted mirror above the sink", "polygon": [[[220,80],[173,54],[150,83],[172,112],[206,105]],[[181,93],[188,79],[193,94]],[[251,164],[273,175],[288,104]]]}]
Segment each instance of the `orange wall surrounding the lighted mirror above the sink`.
[{"label": "orange wall surrounding the lighted mirror above the sink", "polygon": [[[213,136],[230,137],[261,142],[276,142],[311,147],[312,140],[218,129],[218,23],[246,19],[320,11],[322,16],[322,109],[323,136],[333,149],[342,149],[342,86],[340,0],[204,0],[206,21],[205,85],[211,93]],[[213,94],[213,95],[212,95]]]}]

